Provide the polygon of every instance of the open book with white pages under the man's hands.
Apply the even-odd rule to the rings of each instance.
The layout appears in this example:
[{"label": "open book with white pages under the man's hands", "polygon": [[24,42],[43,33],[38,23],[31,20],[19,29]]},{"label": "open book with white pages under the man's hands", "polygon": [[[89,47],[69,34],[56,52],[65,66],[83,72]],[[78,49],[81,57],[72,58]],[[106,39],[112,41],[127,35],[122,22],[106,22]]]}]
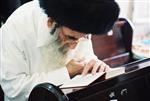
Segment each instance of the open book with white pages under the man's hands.
[{"label": "open book with white pages under the man's hands", "polygon": [[74,78],[70,79],[66,83],[64,83],[60,88],[75,88],[75,87],[85,87],[93,83],[95,80],[100,78],[101,76],[105,76],[105,79],[118,76],[120,74],[125,73],[125,67],[117,67],[112,68],[108,72],[101,72],[96,74],[87,74],[85,76],[76,75]]}]

